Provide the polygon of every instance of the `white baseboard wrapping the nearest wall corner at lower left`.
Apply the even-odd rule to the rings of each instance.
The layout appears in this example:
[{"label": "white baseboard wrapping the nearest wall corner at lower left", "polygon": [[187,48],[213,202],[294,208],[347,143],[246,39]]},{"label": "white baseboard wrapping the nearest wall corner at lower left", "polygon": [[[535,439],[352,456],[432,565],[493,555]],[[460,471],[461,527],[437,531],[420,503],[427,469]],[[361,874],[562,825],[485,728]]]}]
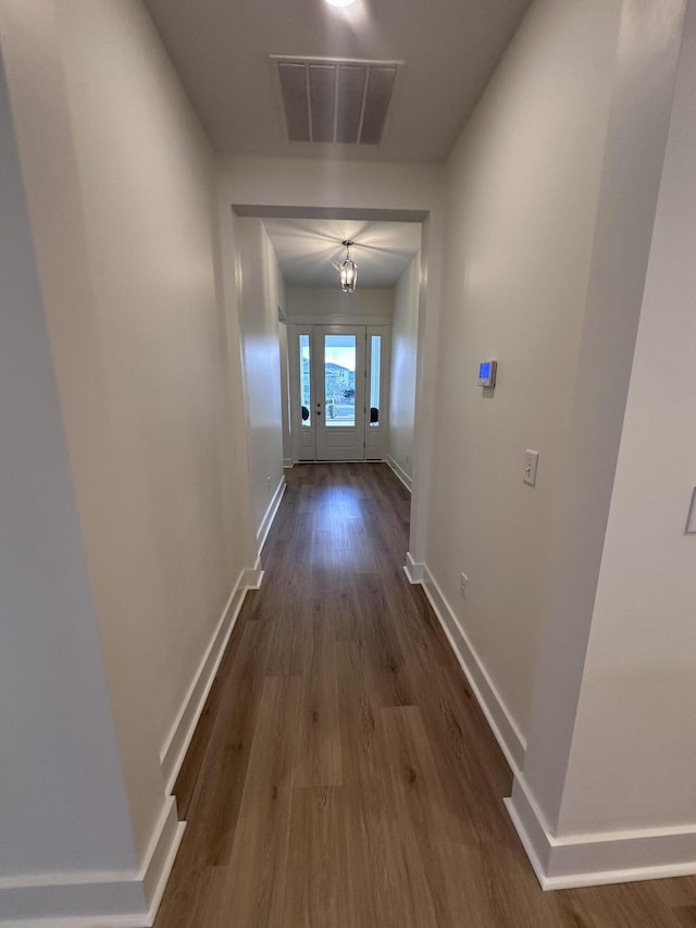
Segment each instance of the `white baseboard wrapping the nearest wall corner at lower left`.
[{"label": "white baseboard wrapping the nearest wall corner at lower left", "polygon": [[[2,928],[151,928],[186,825],[166,800],[138,873],[51,874],[0,883]],[[75,913],[89,913],[76,915]]]}]

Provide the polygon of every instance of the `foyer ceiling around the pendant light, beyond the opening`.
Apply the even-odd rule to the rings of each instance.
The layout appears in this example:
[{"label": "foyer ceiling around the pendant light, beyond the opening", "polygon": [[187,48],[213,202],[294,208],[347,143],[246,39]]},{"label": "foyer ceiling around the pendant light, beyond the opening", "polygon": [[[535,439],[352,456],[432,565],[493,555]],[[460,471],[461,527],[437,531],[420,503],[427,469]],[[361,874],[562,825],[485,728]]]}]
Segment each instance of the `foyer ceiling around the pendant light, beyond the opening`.
[{"label": "foyer ceiling around the pendant light, beyond the opening", "polygon": [[345,238],[356,244],[358,288],[390,287],[421,247],[417,222],[265,219],[278,263],[290,287],[337,287],[335,264],[343,261]]}]

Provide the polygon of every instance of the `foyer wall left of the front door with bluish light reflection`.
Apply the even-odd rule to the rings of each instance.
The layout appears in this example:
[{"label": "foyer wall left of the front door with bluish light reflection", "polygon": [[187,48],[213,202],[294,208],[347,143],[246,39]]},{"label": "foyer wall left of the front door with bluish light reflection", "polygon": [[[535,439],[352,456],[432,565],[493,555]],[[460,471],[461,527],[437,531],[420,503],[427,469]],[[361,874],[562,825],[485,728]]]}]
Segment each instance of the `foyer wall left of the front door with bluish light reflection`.
[{"label": "foyer wall left of the front door with bluish light reflection", "polygon": [[235,220],[240,258],[239,326],[249,434],[253,524],[259,541],[283,480],[278,306],[285,298],[273,244],[259,219]]}]

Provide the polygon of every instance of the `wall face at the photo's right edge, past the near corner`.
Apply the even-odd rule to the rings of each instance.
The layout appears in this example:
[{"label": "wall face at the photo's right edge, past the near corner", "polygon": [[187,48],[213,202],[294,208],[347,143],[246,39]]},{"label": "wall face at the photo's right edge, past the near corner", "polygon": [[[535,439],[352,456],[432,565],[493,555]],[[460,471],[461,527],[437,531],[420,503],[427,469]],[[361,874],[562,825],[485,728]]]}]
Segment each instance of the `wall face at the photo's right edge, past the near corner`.
[{"label": "wall face at the photo's right edge, past the near corner", "polygon": [[696,815],[695,94],[691,3],[559,833]]}]

